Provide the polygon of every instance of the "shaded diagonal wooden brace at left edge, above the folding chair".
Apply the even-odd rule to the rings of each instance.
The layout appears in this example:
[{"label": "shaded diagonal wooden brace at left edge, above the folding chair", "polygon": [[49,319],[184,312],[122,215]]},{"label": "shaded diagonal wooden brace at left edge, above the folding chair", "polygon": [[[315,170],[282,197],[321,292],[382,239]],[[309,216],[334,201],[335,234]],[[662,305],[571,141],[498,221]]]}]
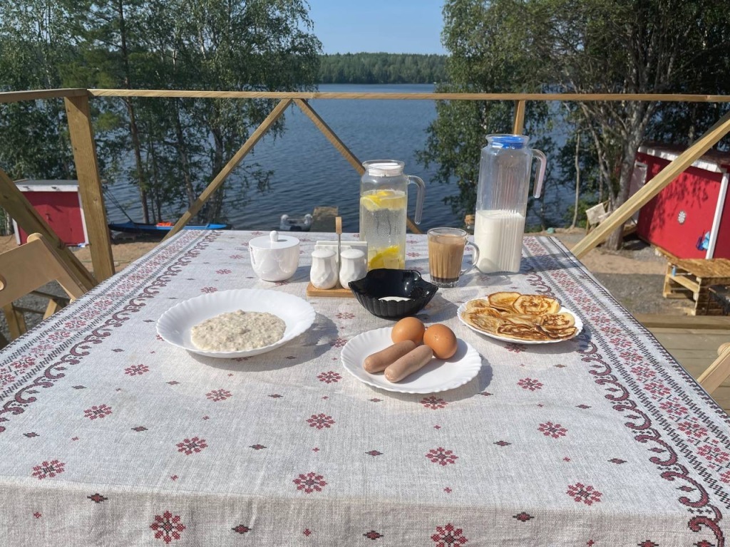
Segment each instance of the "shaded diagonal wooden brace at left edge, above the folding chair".
[{"label": "shaded diagonal wooden brace at left edge, above the folding chair", "polygon": [[0,207],[18,222],[18,226],[26,233],[41,233],[53,249],[58,252],[61,259],[69,265],[69,268],[76,274],[77,279],[82,282],[87,290],[96,287],[96,279],[89,273],[85,266],[72,253],[66,244],[58,238],[58,235],[43,220],[43,217],[34,209],[34,206],[26,199],[15,182],[0,169]]}]

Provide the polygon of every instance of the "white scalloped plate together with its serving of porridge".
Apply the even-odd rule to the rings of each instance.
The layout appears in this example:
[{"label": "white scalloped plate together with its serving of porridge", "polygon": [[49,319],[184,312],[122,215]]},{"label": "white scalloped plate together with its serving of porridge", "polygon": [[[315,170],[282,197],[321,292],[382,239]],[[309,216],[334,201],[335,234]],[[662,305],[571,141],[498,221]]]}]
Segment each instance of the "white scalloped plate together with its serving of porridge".
[{"label": "white scalloped plate together with its serving of porridge", "polygon": [[250,357],[304,333],[315,320],[310,303],[286,292],[237,289],[185,300],[157,321],[161,338],[207,357]]}]

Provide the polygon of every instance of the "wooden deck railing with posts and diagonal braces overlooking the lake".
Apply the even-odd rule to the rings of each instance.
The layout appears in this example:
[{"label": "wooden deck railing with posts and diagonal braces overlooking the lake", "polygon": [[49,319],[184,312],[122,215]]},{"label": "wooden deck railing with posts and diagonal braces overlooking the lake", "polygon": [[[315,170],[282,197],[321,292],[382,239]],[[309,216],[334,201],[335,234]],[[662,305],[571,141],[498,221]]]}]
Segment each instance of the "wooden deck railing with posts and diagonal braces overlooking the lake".
[{"label": "wooden deck railing with posts and diagonal braces overlooking the lake", "polygon": [[[368,100],[415,100],[415,101],[513,101],[515,103],[515,117],[512,125],[513,133],[522,133],[526,104],[529,101],[564,101],[564,102],[591,102],[591,101],[662,101],[662,102],[704,102],[726,103],[730,96],[724,95],[667,95],[661,93],[648,94],[579,94],[579,93],[318,93],[318,92],[250,92],[250,91],[191,91],[191,90],[126,90],[126,89],[53,89],[37,91],[12,91],[0,93],[0,104],[19,101],[37,101],[41,99],[63,98],[66,106],[66,115],[69,123],[69,135],[74,152],[77,178],[81,193],[82,207],[88,228],[89,247],[93,263],[93,276],[101,281],[114,274],[111,242],[107,228],[107,215],[104,209],[104,198],[101,190],[99,166],[96,160],[96,145],[93,139],[93,128],[89,114],[89,101],[94,97],[166,97],[166,98],[228,98],[228,99],[278,99],[278,103],[266,119],[251,133],[242,147],[233,155],[226,166],[212,179],[201,195],[193,202],[166,238],[174,236],[199,212],[210,196],[218,190],[220,185],[231,174],[231,171],[245,158],[262,136],[283,114],[291,104],[304,112],[312,123],[326,136],[328,141],[342,154],[342,156],[358,171],[364,172],[361,161],[347,149],[337,134],[329,128],[312,106],[307,102],[312,99],[368,99]],[[662,188],[672,182],[675,177],[692,165],[707,150],[716,144],[730,131],[730,112],[724,115],[718,123],[697,139],[685,152],[680,154],[672,163],[669,163],[650,182],[631,196],[626,203],[616,209],[610,217],[602,222],[598,228],[585,236],[572,252],[582,257],[586,252],[604,241],[609,234],[629,220],[634,212]],[[0,166],[1,167],[1,166]],[[58,249],[64,260],[74,268],[74,271],[86,279],[89,284],[94,278],[84,266],[74,257],[73,253],[58,236],[50,229],[46,222],[35,212],[25,196],[20,193],[15,183],[0,168],[0,206],[13,217],[20,228],[27,233],[42,233],[53,246]],[[409,222],[412,230],[418,228]]]}]

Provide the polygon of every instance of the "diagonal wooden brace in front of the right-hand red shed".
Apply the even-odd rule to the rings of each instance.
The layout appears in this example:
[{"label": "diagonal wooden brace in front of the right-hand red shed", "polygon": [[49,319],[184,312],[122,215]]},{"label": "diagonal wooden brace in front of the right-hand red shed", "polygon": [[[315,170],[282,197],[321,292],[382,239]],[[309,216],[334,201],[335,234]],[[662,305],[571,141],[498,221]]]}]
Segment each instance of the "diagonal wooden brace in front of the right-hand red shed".
[{"label": "diagonal wooden brace in front of the right-hand red shed", "polygon": [[710,150],[713,144],[723,138],[730,131],[730,112],[720,118],[718,123],[704,133],[699,139],[694,141],[691,147],[682,152],[672,163],[669,163],[664,169],[647,182],[637,193],[631,196],[618,209],[612,212],[606,220],[598,225],[590,235],[581,239],[578,244],[573,247],[572,253],[577,257],[583,257],[585,253],[596,247],[604,241],[613,230],[619,226],[623,226],[626,220],[629,220],[634,212],[641,206],[645,205],[651,198],[657,195],[661,190],[669,185],[677,176],[686,168],[691,166],[696,160],[702,157],[704,152]]}]

